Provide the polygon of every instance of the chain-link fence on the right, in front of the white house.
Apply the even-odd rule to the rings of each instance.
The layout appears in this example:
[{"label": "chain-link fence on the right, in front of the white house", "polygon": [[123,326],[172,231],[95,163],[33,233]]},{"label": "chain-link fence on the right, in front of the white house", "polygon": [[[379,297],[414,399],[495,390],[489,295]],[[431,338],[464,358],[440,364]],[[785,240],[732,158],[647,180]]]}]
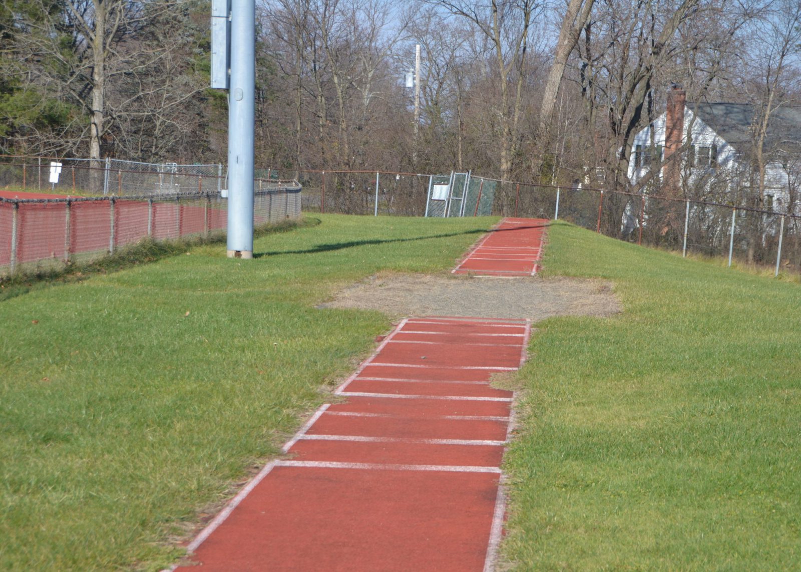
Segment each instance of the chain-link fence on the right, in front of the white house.
[{"label": "chain-link fence on the right, in front of the white house", "polygon": [[500,181],[498,186],[494,211],[505,216],[567,220],[684,256],[723,256],[729,265],[770,265],[777,275],[801,271],[799,205],[777,212],[750,207],[745,194],[679,198]]}]

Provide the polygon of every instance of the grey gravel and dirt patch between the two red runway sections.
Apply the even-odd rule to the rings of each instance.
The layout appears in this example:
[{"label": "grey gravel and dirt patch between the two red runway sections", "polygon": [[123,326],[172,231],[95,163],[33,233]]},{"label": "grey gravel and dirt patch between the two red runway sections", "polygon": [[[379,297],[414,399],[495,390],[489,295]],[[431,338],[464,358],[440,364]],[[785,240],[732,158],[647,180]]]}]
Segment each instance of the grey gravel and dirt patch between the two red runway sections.
[{"label": "grey gravel and dirt patch between the two red runway sections", "polygon": [[366,308],[391,316],[531,318],[611,316],[613,285],[583,278],[388,275],[345,288],[320,308]]}]

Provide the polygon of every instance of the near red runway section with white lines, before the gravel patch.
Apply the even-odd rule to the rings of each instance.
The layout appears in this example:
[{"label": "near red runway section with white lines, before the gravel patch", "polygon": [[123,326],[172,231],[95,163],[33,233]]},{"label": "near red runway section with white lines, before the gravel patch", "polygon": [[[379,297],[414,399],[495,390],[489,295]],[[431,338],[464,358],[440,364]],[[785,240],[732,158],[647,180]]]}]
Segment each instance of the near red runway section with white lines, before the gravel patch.
[{"label": "near red runway section with white lines, before the gravel patch", "polygon": [[[404,320],[191,544],[202,570],[490,570],[528,320]],[[181,570],[198,570],[191,565]]]}]

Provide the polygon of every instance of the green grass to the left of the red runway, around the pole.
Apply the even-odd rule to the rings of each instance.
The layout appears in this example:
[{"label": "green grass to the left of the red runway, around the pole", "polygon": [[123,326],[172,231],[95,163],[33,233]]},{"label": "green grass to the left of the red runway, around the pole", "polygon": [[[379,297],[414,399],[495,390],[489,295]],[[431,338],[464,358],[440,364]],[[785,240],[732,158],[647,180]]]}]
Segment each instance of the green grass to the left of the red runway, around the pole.
[{"label": "green grass to the left of the red runway, around the pole", "polygon": [[453,266],[496,219],[319,216],[0,302],[0,569],[158,570],[374,347],[316,309],[379,271]]}]

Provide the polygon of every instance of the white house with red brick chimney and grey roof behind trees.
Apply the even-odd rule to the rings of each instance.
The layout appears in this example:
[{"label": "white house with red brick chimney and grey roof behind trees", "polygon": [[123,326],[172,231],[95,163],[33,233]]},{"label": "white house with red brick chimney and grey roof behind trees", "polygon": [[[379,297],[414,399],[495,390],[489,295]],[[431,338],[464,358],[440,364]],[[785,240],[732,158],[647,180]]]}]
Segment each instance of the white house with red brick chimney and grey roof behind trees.
[{"label": "white house with red brick chimney and grey roof behind trees", "polygon": [[[720,193],[750,192],[754,113],[746,103],[686,103],[684,91],[674,87],[665,113],[634,136],[630,181],[638,183],[652,165],[665,161],[658,176],[669,194],[720,199]],[[773,111],[763,150],[763,208],[787,211],[793,202],[792,210],[801,212],[795,196],[801,184],[801,109]],[[680,160],[668,161],[676,152]]]}]

